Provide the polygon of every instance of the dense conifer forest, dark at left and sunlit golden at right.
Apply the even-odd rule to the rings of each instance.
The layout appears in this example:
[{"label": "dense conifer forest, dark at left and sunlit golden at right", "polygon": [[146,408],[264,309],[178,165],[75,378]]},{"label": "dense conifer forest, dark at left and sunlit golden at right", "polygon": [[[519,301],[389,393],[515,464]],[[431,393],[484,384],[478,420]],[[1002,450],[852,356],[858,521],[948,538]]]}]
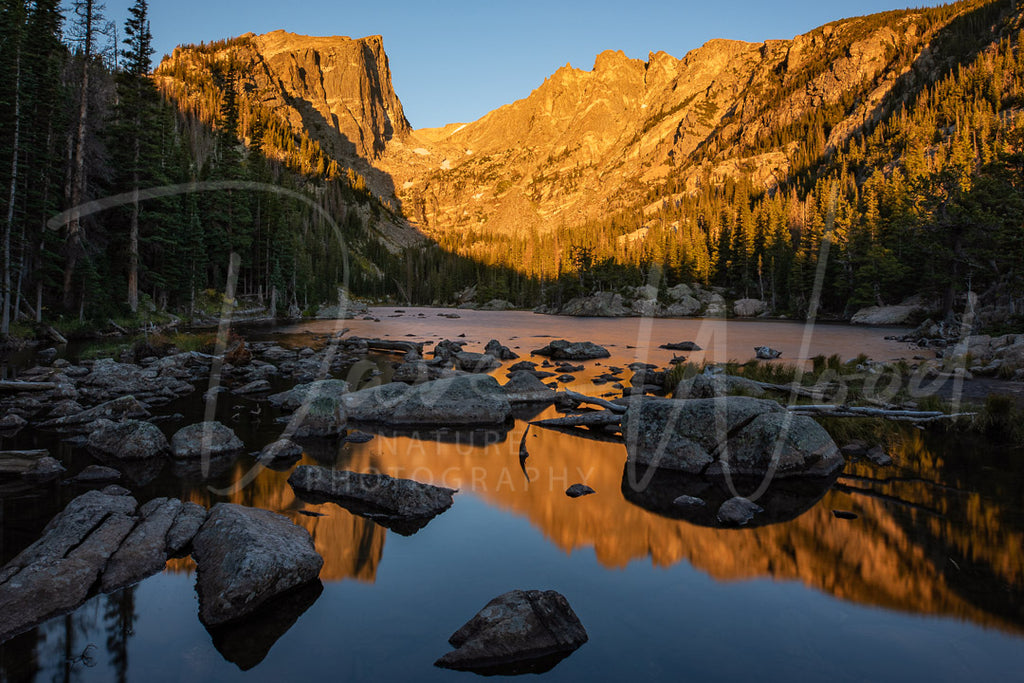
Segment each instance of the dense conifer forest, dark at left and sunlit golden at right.
[{"label": "dense conifer forest, dark at left and sunlit golden at right", "polygon": [[[700,282],[802,315],[822,258],[821,312],[836,316],[912,294],[946,311],[967,292],[1024,297],[1016,3],[918,10],[947,25],[931,49],[955,68],[908,79],[887,117],[839,147],[829,133],[856,89],[739,150],[796,146],[771,191],[744,177],[684,191],[681,168],[646,188],[653,212],[553,231],[431,230],[399,250],[377,228],[402,220],[401,207],[262,106],[238,65],[214,58],[247,38],[190,46],[202,63],[157,79],[145,0],[117,19],[94,0],[0,2],[4,334],[188,315],[225,292],[295,312],[341,285],[402,303],[449,303],[476,286],[477,300],[534,306]],[[908,63],[893,49],[894,65]],[[763,105],[786,94],[763,93]],[[724,127],[693,164],[736,154],[735,135]]]}]

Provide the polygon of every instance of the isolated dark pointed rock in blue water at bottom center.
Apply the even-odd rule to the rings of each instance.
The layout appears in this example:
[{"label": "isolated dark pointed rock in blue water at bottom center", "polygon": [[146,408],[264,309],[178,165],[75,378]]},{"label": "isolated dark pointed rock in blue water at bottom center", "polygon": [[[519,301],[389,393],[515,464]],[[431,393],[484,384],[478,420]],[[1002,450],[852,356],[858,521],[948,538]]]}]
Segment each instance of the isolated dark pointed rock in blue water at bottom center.
[{"label": "isolated dark pointed rock in blue water at bottom center", "polygon": [[487,675],[543,673],[588,640],[568,600],[555,591],[501,595],[455,632],[456,649],[434,663]]}]

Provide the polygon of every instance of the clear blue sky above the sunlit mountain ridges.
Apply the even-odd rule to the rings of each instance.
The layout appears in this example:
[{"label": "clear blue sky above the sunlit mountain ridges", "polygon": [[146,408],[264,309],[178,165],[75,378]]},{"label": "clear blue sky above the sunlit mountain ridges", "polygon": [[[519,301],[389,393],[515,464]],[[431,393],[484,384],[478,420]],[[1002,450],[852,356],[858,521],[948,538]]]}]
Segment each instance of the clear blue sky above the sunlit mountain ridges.
[{"label": "clear blue sky above the sunlit mountain ridges", "polygon": [[[159,62],[180,43],[284,29],[384,37],[395,90],[415,128],[467,122],[525,97],[559,67],[590,70],[618,49],[682,57],[712,38],[793,38],[907,0],[150,0]],[[132,0],[106,0],[123,25]],[[910,6],[937,5],[918,0]]]}]

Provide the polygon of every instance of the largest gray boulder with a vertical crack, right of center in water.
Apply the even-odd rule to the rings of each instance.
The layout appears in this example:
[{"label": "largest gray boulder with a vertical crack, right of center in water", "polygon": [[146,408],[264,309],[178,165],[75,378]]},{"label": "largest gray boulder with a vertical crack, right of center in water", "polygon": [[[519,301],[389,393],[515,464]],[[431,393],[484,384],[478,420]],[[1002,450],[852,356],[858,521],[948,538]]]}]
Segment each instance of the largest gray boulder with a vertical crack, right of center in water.
[{"label": "largest gray boulder with a vertical crack, right of center in water", "polygon": [[828,476],[843,456],[813,419],[746,396],[641,398],[623,416],[634,464],[689,474]]}]

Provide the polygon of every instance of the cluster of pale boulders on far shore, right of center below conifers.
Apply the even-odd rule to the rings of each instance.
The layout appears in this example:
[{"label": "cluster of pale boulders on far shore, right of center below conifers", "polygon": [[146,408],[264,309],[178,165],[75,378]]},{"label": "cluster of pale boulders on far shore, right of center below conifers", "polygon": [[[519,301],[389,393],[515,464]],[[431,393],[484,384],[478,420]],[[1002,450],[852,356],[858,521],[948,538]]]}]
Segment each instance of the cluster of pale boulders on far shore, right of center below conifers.
[{"label": "cluster of pale boulders on far shore, right of center below conifers", "polygon": [[577,297],[561,306],[541,306],[539,313],[581,317],[755,317],[768,312],[760,299],[737,299],[730,306],[726,291],[707,289],[699,284],[677,285],[659,291],[656,287],[629,288],[624,292],[598,292]]}]

